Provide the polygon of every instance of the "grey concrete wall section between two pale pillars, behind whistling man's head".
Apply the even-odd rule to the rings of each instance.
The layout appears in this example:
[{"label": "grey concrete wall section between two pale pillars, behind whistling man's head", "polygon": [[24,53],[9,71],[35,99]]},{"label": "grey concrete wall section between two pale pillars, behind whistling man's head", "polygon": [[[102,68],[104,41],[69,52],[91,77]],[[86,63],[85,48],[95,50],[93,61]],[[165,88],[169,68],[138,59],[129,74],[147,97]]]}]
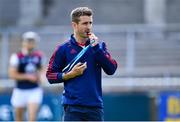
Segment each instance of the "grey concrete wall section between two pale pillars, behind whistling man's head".
[{"label": "grey concrete wall section between two pale pillars, behind whistling man's head", "polygon": [[94,10],[95,24],[143,23],[143,0],[56,0],[45,24],[67,25],[69,14],[79,6]]}]

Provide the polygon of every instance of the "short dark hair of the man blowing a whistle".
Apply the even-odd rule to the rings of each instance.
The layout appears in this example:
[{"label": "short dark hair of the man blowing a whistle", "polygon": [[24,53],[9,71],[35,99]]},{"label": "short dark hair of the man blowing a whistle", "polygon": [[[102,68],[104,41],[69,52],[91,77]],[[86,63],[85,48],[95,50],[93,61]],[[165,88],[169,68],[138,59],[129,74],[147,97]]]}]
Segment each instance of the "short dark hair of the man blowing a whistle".
[{"label": "short dark hair of the man blowing a whistle", "polygon": [[88,7],[78,7],[71,11],[71,21],[78,23],[80,16],[92,16],[93,12]]}]

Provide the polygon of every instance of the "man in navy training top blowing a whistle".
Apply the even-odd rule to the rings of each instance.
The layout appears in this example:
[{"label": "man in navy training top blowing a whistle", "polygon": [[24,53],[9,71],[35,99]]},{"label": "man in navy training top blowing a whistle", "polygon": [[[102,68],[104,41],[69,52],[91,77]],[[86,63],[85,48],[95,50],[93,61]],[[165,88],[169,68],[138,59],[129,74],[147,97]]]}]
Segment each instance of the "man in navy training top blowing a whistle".
[{"label": "man in navy training top blowing a whistle", "polygon": [[[46,73],[50,83],[64,83],[62,104],[65,121],[103,121],[101,69],[114,74],[117,63],[107,52],[104,42],[92,32],[93,15],[87,7],[71,12],[73,34],[70,40],[57,47]],[[63,69],[87,45],[91,47],[70,70]],[[64,72],[62,72],[64,71]]]}]

